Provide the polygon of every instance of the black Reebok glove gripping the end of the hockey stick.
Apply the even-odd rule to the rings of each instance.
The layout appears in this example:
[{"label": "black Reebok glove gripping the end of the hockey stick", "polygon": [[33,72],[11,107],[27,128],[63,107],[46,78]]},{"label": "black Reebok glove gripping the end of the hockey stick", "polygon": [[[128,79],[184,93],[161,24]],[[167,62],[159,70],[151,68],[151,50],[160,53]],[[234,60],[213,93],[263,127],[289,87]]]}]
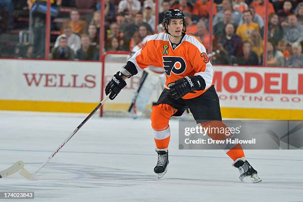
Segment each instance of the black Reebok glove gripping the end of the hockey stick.
[{"label": "black Reebok glove gripping the end of the hockey stick", "polygon": [[109,99],[113,100],[120,93],[120,91],[126,86],[126,82],[119,75],[120,72],[117,72],[111,78],[110,82],[105,87],[106,96],[110,93]]}]

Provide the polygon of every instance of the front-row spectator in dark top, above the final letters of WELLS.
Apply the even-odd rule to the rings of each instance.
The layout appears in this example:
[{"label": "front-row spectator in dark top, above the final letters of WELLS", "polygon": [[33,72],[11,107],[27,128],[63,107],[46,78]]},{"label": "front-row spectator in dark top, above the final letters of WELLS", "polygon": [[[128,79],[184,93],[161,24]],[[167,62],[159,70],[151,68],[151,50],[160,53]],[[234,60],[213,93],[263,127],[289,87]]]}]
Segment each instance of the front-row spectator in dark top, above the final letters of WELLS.
[{"label": "front-row spectator in dark top, above the final letters of WELLS", "polygon": [[98,60],[98,50],[91,45],[88,35],[81,35],[81,49],[77,50],[76,59],[79,60]]}]

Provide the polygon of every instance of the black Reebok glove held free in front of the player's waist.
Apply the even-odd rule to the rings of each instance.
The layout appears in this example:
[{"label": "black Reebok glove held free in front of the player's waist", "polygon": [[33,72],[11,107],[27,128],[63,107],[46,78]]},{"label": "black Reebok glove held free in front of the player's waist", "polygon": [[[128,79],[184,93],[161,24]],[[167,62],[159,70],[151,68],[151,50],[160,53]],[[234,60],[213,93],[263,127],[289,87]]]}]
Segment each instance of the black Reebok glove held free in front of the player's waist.
[{"label": "black Reebok glove held free in front of the player's waist", "polygon": [[205,81],[201,76],[186,76],[168,84],[167,92],[175,100],[178,100],[188,93],[204,90]]}]

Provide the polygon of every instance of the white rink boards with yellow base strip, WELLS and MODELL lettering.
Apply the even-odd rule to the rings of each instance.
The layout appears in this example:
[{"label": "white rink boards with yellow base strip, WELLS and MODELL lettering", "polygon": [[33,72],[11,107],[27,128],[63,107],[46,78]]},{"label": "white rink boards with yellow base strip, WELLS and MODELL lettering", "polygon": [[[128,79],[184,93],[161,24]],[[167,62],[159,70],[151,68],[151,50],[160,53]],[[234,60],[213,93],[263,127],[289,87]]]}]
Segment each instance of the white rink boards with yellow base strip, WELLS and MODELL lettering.
[{"label": "white rink boards with yellow base strip, WELLS and MODELL lettering", "polygon": [[[90,112],[104,84],[122,62],[0,60],[0,110]],[[303,68],[214,66],[213,82],[223,117],[302,119]],[[126,111],[140,82],[126,88],[104,111]],[[153,92],[156,101],[159,92]]]}]

